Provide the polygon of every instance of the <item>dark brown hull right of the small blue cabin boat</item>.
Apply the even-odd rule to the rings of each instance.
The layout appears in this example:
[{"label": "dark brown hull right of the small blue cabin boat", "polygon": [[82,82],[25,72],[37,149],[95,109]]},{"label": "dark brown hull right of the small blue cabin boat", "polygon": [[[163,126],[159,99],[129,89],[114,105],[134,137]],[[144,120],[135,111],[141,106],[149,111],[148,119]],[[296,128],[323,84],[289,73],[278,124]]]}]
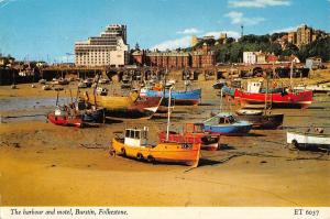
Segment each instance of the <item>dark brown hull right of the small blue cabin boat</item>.
[{"label": "dark brown hull right of the small blue cabin boat", "polygon": [[253,129],[277,129],[283,124],[284,114],[245,114],[237,118],[252,123]]}]

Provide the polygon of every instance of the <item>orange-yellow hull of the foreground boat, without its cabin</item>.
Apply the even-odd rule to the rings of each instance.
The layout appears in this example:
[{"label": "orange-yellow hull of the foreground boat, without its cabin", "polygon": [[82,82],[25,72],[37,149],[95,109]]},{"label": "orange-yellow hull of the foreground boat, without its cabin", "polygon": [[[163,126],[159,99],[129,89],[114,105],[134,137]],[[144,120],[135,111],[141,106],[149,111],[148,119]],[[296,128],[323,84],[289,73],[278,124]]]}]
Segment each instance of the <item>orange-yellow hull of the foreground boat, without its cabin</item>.
[{"label": "orange-yellow hull of the foreground boat, without its cabin", "polygon": [[168,162],[197,166],[200,156],[200,144],[160,143],[155,146],[131,146],[121,139],[112,140],[116,154],[145,160],[150,162]]}]

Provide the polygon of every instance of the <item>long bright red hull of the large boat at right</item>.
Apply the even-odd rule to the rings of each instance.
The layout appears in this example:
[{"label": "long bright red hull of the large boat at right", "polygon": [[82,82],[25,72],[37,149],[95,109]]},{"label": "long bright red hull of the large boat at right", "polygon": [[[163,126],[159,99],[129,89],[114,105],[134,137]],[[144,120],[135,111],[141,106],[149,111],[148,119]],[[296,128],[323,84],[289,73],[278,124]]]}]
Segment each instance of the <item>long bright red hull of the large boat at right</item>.
[{"label": "long bright red hull of the large boat at right", "polygon": [[272,105],[273,108],[307,108],[312,102],[312,91],[286,91],[282,92],[245,92],[237,89],[234,98],[238,99],[242,106],[246,105],[264,105],[265,102]]}]

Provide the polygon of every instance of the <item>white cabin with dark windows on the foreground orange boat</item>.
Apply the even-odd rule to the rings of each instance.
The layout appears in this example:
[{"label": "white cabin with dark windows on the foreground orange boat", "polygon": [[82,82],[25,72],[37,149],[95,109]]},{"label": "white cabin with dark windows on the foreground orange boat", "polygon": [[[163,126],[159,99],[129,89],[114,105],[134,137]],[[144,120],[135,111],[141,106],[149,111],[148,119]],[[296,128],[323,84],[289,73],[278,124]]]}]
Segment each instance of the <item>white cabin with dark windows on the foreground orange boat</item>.
[{"label": "white cabin with dark windows on the foreground orange boat", "polygon": [[124,144],[130,146],[143,146],[147,144],[148,129],[125,129]]}]

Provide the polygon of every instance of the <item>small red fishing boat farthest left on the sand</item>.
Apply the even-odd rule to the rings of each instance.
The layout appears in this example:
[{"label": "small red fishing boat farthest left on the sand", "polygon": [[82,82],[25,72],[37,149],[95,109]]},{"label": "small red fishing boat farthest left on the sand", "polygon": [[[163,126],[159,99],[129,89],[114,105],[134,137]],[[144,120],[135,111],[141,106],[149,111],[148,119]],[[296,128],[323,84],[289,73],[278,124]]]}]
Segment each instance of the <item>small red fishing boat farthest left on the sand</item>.
[{"label": "small red fishing boat farthest left on the sand", "polygon": [[57,106],[54,112],[47,114],[53,124],[82,128],[84,122],[79,116],[70,114],[67,106]]}]

